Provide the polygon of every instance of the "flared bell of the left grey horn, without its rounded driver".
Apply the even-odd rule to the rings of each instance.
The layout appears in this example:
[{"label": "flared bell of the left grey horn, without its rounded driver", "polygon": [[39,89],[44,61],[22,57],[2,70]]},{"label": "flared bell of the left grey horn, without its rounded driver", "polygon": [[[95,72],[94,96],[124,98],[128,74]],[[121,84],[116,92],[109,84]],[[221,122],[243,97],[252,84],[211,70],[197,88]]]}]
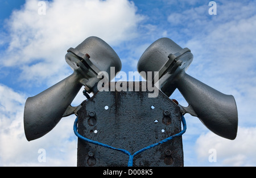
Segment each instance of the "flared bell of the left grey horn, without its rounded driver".
[{"label": "flared bell of the left grey horn, without its rounded driver", "polygon": [[28,141],[38,139],[51,131],[62,118],[82,84],[73,73],[68,78],[28,98],[24,109],[24,130]]}]

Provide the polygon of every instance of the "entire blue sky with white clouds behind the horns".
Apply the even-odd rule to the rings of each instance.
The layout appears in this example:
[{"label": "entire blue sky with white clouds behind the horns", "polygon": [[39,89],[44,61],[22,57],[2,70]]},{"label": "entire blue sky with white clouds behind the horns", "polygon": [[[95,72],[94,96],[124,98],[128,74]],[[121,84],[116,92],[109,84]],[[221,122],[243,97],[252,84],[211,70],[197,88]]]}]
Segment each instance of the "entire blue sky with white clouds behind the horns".
[{"label": "entire blue sky with white clouds behind the horns", "polygon": [[[234,141],[210,132],[185,115],[184,166],[256,166],[256,2],[52,0],[39,15],[37,0],[0,0],[0,166],[76,166],[75,116],[63,118],[47,135],[28,142],[23,130],[26,99],[72,74],[67,49],[98,36],[117,52],[122,71],[155,40],[169,37],[191,49],[187,73],[224,94],[238,107]],[[171,96],[187,103],[179,91]],[[85,98],[77,95],[73,105]],[[38,151],[46,150],[40,163]],[[216,162],[209,156],[216,150]]]}]

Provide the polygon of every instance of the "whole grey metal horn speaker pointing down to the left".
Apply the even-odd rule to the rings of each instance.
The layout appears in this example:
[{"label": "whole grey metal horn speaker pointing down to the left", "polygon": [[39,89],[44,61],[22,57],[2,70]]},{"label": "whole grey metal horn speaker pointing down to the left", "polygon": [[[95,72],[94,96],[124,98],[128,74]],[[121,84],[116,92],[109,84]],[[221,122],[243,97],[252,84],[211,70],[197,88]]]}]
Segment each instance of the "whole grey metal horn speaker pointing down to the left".
[{"label": "whole grey metal horn speaker pointing down to the left", "polygon": [[[73,74],[61,82],[28,98],[24,107],[24,130],[28,141],[38,139],[51,131],[62,117],[73,114],[73,99],[82,86],[92,88],[101,79],[100,71],[110,75],[110,67],[115,74],[121,71],[121,60],[114,50],[98,37],[88,37],[76,48],[70,48],[65,60],[74,70]],[[112,80],[112,78],[109,78]]]}]

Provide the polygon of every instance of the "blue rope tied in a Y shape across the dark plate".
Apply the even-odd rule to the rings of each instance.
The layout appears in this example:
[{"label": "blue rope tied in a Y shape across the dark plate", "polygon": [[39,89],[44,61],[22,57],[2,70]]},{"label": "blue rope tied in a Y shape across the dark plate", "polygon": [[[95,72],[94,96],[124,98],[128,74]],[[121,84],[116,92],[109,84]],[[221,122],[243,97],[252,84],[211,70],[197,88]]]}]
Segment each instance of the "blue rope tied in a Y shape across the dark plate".
[{"label": "blue rope tied in a Y shape across the dark plate", "polygon": [[92,144],[94,144],[94,145],[103,146],[103,147],[106,147],[106,148],[108,148],[108,149],[112,149],[112,150],[116,150],[116,151],[121,151],[121,152],[127,154],[127,155],[129,156],[128,167],[133,166],[133,158],[134,158],[134,156],[140,154],[140,153],[143,152],[143,151],[146,151],[146,150],[148,150],[148,149],[151,149],[152,147],[155,147],[155,146],[158,146],[158,145],[160,145],[160,144],[166,143],[166,142],[170,141],[171,139],[174,139],[175,137],[179,137],[179,136],[183,135],[183,134],[186,132],[186,130],[187,130],[187,124],[186,124],[185,118],[184,118],[183,115],[181,115],[181,121],[182,121],[182,124],[183,124],[183,130],[181,130],[180,133],[175,134],[175,135],[172,135],[171,137],[168,137],[168,138],[166,138],[166,139],[164,139],[164,140],[162,140],[162,141],[160,141],[160,142],[158,142],[158,143],[154,143],[154,144],[152,144],[152,145],[150,145],[150,146],[144,147],[143,149],[141,149],[141,150],[135,152],[134,154],[131,154],[131,153],[130,153],[129,151],[127,151],[127,150],[117,149],[117,148],[115,148],[115,147],[106,145],[106,144],[104,144],[104,143],[100,143],[100,142],[97,142],[97,141],[92,141],[92,140],[90,140],[90,139],[88,139],[88,138],[83,137],[82,135],[80,135],[80,134],[77,132],[77,121],[78,121],[78,117],[77,117],[76,120],[75,120],[73,129],[74,129],[74,132],[75,132],[75,134],[76,134],[76,136],[77,136],[78,138],[84,140],[85,142],[92,143]]}]

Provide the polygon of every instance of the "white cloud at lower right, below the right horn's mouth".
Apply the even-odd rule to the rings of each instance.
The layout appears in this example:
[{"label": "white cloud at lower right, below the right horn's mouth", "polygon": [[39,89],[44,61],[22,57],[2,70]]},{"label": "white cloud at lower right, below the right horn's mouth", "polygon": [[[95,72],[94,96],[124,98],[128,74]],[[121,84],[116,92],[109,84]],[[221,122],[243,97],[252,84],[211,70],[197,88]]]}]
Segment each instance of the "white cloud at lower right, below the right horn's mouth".
[{"label": "white cloud at lower right, below the right horn's mouth", "polygon": [[238,128],[237,138],[230,141],[209,132],[196,141],[199,160],[208,160],[209,150],[216,150],[218,166],[253,166],[256,164],[256,128]]}]

